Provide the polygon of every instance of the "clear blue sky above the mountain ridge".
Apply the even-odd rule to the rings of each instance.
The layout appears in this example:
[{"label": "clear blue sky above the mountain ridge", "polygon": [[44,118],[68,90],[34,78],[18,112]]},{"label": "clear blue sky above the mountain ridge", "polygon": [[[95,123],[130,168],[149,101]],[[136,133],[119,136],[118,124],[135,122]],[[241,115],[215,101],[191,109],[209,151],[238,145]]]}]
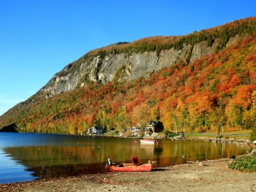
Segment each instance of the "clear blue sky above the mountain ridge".
[{"label": "clear blue sky above the mountain ridge", "polygon": [[0,0],[0,115],[89,50],[256,16],[255,0]]}]

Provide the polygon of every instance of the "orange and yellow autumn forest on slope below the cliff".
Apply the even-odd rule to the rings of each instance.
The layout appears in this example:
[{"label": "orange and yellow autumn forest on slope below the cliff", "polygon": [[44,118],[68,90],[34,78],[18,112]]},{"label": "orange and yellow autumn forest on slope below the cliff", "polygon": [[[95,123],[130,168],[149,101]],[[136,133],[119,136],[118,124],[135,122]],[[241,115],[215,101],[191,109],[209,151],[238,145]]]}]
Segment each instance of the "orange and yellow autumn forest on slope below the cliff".
[{"label": "orange and yellow autumn forest on slope below the cliff", "polygon": [[32,102],[2,115],[0,126],[15,123],[19,131],[80,134],[91,126],[121,131],[159,119],[168,131],[220,133],[252,128],[256,123],[256,34],[218,49],[193,63],[170,64],[147,79],[104,85],[89,82],[48,99],[36,94]]}]

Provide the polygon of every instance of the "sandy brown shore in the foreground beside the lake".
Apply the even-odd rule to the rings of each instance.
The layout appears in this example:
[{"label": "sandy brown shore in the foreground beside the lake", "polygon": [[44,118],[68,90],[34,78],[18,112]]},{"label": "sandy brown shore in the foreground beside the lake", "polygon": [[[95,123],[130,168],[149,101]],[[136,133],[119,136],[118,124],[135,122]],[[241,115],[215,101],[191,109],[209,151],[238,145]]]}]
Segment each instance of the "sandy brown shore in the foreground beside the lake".
[{"label": "sandy brown shore in the foreground beside the lake", "polygon": [[0,191],[256,191],[256,173],[227,169],[228,158],[154,168],[0,185]]}]

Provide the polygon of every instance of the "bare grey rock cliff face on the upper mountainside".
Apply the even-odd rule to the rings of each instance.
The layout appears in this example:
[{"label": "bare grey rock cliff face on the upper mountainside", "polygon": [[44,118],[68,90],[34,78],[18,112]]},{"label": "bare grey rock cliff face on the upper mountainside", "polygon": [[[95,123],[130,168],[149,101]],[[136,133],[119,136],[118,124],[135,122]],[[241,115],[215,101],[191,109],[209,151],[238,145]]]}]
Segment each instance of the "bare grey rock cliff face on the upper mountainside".
[{"label": "bare grey rock cliff face on the upper mountainside", "polygon": [[215,39],[211,47],[208,47],[207,42],[199,42],[193,47],[184,45],[181,50],[174,48],[162,50],[159,55],[156,52],[110,53],[103,58],[99,55],[93,59],[80,58],[80,62],[69,64],[61,72],[55,74],[39,92],[46,93],[48,97],[83,87],[88,80],[105,83],[112,80],[124,82],[135,80],[138,77],[148,77],[152,72],[188,57],[189,62],[193,62],[203,55],[211,54],[217,42]]}]

